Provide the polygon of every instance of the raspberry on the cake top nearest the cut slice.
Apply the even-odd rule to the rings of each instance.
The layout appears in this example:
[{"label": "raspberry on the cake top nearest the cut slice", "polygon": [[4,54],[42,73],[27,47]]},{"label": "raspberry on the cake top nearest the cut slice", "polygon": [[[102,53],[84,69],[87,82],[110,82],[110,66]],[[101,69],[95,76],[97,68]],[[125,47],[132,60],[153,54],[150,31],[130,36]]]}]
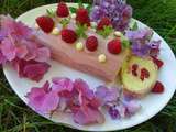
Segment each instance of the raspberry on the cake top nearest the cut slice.
[{"label": "raspberry on the cake top nearest the cut slice", "polygon": [[121,48],[120,38],[114,38],[108,43],[108,51],[112,54],[119,54]]}]

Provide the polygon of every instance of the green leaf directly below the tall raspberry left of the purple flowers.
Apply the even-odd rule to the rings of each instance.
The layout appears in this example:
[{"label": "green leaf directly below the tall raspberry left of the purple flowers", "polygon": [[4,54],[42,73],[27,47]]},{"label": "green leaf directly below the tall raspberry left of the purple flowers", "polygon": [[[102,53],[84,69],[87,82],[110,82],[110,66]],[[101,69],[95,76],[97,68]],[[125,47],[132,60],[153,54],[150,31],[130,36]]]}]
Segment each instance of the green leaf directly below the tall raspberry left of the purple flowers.
[{"label": "green leaf directly below the tall raspberry left of the purple flowers", "polygon": [[85,33],[85,31],[87,31],[87,24],[77,24],[77,29],[76,29],[76,34],[79,36],[79,37],[84,37],[84,38],[87,38],[87,35]]}]

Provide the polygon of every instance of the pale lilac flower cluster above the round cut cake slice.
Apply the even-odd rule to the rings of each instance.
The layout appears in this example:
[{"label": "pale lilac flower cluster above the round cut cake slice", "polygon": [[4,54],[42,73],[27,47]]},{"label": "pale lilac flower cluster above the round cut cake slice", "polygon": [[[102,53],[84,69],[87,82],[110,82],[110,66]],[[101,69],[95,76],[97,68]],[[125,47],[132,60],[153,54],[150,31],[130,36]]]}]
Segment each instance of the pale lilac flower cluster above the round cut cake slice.
[{"label": "pale lilac flower cluster above the round cut cake slice", "polygon": [[156,57],[158,55],[161,41],[151,41],[153,35],[153,31],[151,29],[127,31],[125,35],[132,43],[131,50],[134,55],[138,55],[140,57]]}]

